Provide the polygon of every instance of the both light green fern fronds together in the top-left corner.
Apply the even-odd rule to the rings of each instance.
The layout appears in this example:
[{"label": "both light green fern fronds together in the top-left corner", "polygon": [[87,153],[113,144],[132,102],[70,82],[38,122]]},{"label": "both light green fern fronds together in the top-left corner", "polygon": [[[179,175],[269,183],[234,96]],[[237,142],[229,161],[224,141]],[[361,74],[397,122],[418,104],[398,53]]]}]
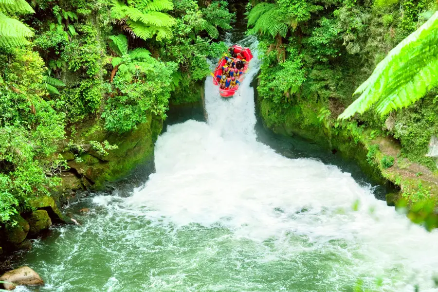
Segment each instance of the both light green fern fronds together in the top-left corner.
[{"label": "both light green fern fronds together in the top-left corner", "polygon": [[[6,13],[6,14],[5,14]],[[28,44],[34,35],[29,27],[9,14],[35,13],[25,0],[0,0],[0,47],[11,48]]]}]

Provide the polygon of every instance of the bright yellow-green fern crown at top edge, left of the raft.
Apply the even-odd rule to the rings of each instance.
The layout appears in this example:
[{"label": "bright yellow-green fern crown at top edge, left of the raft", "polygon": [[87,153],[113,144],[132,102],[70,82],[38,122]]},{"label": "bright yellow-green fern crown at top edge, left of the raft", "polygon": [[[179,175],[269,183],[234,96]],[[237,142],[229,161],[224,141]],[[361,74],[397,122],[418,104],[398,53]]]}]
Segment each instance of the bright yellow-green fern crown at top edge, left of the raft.
[{"label": "bright yellow-green fern crown at top edge, left of the raft", "polygon": [[125,5],[119,0],[112,0],[111,6],[111,17],[120,20],[123,23],[123,29],[131,37],[140,37],[145,40],[154,36],[157,40],[172,37],[170,28],[176,21],[162,12],[173,8],[171,1],[128,1],[128,5]]}]

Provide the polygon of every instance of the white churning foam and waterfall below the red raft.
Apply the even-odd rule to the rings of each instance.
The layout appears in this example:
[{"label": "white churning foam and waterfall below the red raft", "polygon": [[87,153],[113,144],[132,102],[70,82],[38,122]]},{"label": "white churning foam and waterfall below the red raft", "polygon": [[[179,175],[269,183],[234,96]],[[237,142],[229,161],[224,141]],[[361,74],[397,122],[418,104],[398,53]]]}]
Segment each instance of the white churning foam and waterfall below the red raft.
[{"label": "white churning foam and waterfall below the red raft", "polygon": [[207,79],[208,123],[187,121],[160,136],[157,171],[128,209],[164,225],[223,226],[257,244],[273,240],[277,252],[260,260],[330,252],[350,261],[353,278],[382,278],[382,291],[416,283],[438,291],[437,230],[413,225],[337,167],[287,159],[256,142],[250,81],[258,68],[255,58],[231,99]]}]

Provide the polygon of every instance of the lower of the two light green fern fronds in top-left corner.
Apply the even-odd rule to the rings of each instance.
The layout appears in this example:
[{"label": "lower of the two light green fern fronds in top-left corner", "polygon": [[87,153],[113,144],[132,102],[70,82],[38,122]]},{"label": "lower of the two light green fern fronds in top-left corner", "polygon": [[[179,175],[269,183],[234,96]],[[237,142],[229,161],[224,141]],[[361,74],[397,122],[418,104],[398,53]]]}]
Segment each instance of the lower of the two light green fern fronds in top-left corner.
[{"label": "lower of the two light green fern fronds in top-left corner", "polygon": [[27,37],[32,37],[33,31],[17,19],[8,18],[0,11],[0,46],[10,48],[28,44]]}]

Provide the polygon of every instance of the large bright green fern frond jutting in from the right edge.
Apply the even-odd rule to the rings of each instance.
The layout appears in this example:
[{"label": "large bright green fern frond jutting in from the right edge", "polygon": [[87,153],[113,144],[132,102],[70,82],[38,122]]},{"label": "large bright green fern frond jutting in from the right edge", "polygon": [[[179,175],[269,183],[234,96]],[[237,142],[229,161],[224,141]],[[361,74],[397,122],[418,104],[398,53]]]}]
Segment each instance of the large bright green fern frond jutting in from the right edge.
[{"label": "large bright green fern frond jutting in from the right edge", "polygon": [[407,107],[438,86],[438,12],[406,37],[356,90],[361,93],[340,116],[347,119],[377,103],[381,115]]}]

